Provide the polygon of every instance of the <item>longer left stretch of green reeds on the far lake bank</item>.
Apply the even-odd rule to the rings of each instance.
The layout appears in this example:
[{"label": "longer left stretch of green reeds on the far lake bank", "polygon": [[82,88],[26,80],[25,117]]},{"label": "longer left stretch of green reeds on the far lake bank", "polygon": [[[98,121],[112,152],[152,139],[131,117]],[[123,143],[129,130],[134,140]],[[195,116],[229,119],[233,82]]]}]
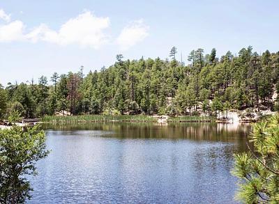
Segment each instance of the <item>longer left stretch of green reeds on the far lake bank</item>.
[{"label": "longer left stretch of green reeds on the far lake bank", "polygon": [[43,123],[98,123],[98,122],[130,122],[130,123],[156,123],[157,119],[151,116],[45,116]]}]

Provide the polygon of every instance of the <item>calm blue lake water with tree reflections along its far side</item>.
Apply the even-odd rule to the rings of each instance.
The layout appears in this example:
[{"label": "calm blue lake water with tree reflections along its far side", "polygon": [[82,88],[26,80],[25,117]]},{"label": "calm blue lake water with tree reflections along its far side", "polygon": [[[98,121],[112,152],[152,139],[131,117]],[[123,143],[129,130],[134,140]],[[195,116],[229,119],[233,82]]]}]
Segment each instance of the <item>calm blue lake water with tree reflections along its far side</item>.
[{"label": "calm blue lake water with tree reflections along its far side", "polygon": [[27,203],[235,203],[233,154],[247,125],[105,123],[45,127]]}]

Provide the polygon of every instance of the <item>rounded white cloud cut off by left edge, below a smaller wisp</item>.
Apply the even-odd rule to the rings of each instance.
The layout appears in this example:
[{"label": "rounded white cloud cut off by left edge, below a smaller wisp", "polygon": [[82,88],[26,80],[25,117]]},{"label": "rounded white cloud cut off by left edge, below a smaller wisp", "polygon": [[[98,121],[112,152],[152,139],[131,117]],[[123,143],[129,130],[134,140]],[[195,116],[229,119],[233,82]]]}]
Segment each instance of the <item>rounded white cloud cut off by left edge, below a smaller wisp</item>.
[{"label": "rounded white cloud cut off by left edge, below a smaller wisp", "polygon": [[14,21],[6,25],[0,25],[0,42],[24,40],[23,30],[24,24],[21,21]]}]

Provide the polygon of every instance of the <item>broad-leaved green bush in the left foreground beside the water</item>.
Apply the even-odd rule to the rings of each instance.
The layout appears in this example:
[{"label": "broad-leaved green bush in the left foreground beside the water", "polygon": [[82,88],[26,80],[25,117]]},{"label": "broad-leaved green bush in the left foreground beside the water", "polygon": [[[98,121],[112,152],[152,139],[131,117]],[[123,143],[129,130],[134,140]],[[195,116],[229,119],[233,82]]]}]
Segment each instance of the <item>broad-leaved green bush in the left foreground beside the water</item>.
[{"label": "broad-leaved green bush in the left foreground beside the water", "polygon": [[36,162],[49,153],[45,132],[38,126],[0,130],[0,203],[24,203],[31,198],[27,175],[36,175]]}]

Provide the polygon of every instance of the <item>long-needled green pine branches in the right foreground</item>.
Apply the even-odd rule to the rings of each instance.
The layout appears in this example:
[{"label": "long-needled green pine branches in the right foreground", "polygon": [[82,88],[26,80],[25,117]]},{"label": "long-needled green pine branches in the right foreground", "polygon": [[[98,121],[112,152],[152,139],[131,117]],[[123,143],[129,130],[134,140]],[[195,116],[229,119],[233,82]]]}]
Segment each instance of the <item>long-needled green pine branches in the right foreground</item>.
[{"label": "long-needled green pine branches in the right foreground", "polygon": [[232,174],[239,178],[236,199],[244,203],[279,203],[279,114],[257,123],[252,150],[234,155]]}]

